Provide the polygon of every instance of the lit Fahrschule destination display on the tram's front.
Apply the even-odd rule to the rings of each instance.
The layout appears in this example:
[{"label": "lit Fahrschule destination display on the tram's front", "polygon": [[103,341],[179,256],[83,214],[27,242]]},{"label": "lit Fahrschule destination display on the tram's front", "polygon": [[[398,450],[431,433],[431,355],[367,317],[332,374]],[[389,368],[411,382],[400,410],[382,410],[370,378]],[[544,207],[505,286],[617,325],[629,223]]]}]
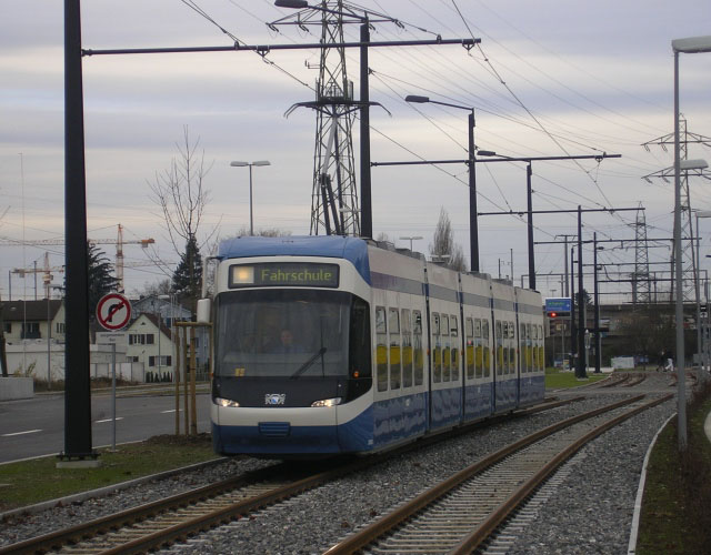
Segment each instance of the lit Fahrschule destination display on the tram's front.
[{"label": "lit Fahrschule destination display on the tram's front", "polygon": [[338,287],[338,264],[316,262],[263,262],[230,266],[229,286],[236,287]]}]

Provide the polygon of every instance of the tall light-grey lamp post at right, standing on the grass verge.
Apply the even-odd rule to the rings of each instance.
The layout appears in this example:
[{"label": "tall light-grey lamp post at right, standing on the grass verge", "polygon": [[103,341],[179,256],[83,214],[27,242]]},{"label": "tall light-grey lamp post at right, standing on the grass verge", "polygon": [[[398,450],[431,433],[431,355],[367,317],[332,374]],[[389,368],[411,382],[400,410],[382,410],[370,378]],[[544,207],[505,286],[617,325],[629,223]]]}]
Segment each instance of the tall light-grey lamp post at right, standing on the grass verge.
[{"label": "tall light-grey lamp post at right, standing on the grass verge", "polygon": [[[687,392],[684,373],[684,314],[681,294],[681,157],[679,144],[679,53],[711,52],[711,36],[671,41],[674,52],[674,282],[677,285],[677,404],[679,451],[687,451]],[[691,169],[691,168],[687,168]]]}]

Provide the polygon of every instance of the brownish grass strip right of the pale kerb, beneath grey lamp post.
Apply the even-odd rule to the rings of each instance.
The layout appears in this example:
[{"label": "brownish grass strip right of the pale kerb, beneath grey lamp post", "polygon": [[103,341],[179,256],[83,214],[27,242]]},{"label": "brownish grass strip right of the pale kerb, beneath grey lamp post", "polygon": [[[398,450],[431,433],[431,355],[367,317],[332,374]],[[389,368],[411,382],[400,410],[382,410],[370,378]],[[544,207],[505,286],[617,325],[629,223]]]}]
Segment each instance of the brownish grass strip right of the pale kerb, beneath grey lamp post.
[{"label": "brownish grass strip right of the pale kerb, beneath grey lamp post", "polygon": [[687,410],[688,448],[679,453],[677,418],[662,431],[650,455],[637,553],[691,555],[711,546],[711,443],[703,422],[711,385]]}]

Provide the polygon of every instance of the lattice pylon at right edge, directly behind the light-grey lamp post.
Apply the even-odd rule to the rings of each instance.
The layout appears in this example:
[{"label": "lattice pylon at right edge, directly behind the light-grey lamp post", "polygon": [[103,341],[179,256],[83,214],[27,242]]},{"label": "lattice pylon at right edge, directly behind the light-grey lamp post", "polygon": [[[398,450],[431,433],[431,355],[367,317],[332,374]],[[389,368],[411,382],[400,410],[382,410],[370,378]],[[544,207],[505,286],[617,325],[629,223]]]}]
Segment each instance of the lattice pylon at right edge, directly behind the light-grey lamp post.
[{"label": "lattice pylon at right edge, directly behind the light-grey lamp post", "polygon": [[[705,147],[711,147],[711,138],[703,137],[697,133],[691,133],[687,129],[687,120],[681,118],[679,120],[679,148],[680,148],[680,160],[688,160],[689,153],[689,144],[702,144]],[[669,133],[667,135],[660,137],[659,139],[654,139],[652,141],[645,142],[642,144],[644,149],[649,150],[651,144],[659,144],[665,151],[667,145],[674,144],[674,133]],[[697,253],[694,250],[694,234],[693,234],[693,219],[691,213],[691,195],[689,193],[689,176],[702,176],[705,179],[710,179],[710,175],[704,170],[689,170],[681,171],[680,174],[680,186],[681,186],[681,253],[674,252],[672,249],[672,269],[675,256],[681,256],[681,292],[677,292],[677,294],[682,295],[682,300],[684,302],[695,301],[697,291],[697,273],[698,273],[698,261]],[[674,179],[674,168],[665,168],[664,170],[660,170],[654,173],[650,173],[644,175],[642,179],[651,182],[652,178],[661,178],[667,182],[673,181]],[[674,280],[671,281],[671,292],[670,292],[670,301],[674,300]]]}]

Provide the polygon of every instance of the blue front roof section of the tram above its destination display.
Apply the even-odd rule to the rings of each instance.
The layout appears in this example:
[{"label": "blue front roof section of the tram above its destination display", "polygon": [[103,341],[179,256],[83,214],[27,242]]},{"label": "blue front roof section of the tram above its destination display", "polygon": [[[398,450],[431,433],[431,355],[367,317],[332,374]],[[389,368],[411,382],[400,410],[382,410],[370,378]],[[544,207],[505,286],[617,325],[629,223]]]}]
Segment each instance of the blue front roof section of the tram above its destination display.
[{"label": "blue front roof section of the tram above its destination display", "polygon": [[358,273],[367,283],[371,283],[368,243],[358,238],[340,235],[240,236],[220,241],[218,256],[222,260],[250,256],[344,259],[356,266]]}]

